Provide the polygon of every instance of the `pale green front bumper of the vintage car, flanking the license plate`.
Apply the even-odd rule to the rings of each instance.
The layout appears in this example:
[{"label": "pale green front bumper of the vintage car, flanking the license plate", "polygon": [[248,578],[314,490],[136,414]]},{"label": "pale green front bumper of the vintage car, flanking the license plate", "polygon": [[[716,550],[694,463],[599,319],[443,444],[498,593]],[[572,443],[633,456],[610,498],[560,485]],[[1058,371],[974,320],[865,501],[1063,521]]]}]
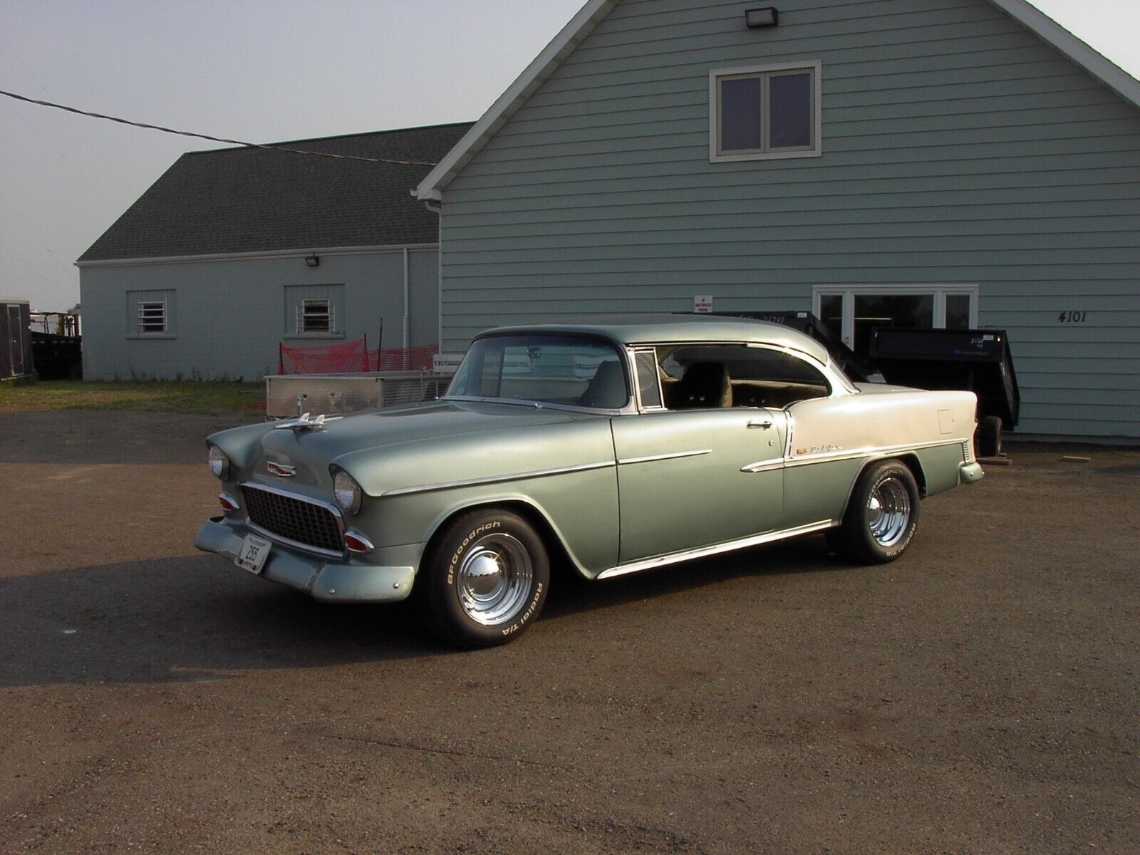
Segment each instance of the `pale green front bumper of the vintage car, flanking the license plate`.
[{"label": "pale green front bumper of the vintage car, flanking the license plate", "polygon": [[[198,529],[194,545],[234,561],[246,534],[250,531],[241,522],[213,516]],[[253,534],[263,537],[260,532]],[[262,578],[303,591],[316,600],[356,603],[390,603],[406,598],[412,593],[423,549],[421,544],[376,549],[369,557],[378,560],[377,565],[357,559],[329,562],[276,542],[272,544],[260,573]]]}]

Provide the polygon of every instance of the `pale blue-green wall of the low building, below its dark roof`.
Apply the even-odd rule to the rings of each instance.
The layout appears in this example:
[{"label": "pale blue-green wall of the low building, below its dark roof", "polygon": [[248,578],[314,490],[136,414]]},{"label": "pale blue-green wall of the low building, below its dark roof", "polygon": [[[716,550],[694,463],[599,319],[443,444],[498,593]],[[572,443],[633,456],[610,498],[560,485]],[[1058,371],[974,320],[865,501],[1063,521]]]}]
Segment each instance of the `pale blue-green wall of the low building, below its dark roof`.
[{"label": "pale blue-green wall of the low building, below its dark roof", "polygon": [[[276,374],[282,343],[319,347],[366,335],[369,348],[404,345],[401,250],[323,254],[319,267],[308,267],[304,254],[82,267],[83,376],[258,380]],[[438,266],[434,249],[408,252],[410,344],[438,342]],[[169,335],[135,334],[136,292],[172,294]],[[296,334],[302,298],[332,300],[336,334]]]}]

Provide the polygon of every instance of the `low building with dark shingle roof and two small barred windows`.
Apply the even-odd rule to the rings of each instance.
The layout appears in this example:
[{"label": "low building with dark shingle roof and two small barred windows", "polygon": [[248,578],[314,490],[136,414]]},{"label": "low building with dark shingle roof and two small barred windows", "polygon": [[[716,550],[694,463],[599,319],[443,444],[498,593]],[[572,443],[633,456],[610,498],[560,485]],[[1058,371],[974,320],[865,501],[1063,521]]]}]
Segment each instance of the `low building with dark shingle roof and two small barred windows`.
[{"label": "low building with dark shingle roof and two small barred windows", "polygon": [[470,128],[279,144],[412,164],[182,155],[76,262],[83,376],[253,380],[282,343],[437,343],[439,222],[409,189]]}]

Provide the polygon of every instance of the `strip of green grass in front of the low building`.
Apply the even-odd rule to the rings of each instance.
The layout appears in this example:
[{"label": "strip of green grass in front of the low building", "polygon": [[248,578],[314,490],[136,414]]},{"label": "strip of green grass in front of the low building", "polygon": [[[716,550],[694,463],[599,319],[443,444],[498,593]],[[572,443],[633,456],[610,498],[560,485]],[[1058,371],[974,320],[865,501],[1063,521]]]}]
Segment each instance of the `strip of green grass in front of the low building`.
[{"label": "strip of green grass in front of the low building", "polygon": [[264,410],[261,383],[196,381],[84,382],[51,380],[0,383],[0,410],[130,409],[147,413],[221,414]]}]

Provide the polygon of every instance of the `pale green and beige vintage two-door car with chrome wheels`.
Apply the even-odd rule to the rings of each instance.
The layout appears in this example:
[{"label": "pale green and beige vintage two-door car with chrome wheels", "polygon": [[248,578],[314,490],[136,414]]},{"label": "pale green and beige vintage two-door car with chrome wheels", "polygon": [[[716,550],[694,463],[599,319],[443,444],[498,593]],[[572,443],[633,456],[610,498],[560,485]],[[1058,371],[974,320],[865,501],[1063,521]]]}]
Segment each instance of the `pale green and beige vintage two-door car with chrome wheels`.
[{"label": "pale green and beige vintage two-door car with chrome wheels", "polygon": [[854,384],[762,321],[491,329],[437,401],[211,435],[195,545],[318,600],[414,589],[445,638],[500,644],[552,561],[606,579],[809,532],[898,557],[921,498],[982,478],[976,405]]}]

